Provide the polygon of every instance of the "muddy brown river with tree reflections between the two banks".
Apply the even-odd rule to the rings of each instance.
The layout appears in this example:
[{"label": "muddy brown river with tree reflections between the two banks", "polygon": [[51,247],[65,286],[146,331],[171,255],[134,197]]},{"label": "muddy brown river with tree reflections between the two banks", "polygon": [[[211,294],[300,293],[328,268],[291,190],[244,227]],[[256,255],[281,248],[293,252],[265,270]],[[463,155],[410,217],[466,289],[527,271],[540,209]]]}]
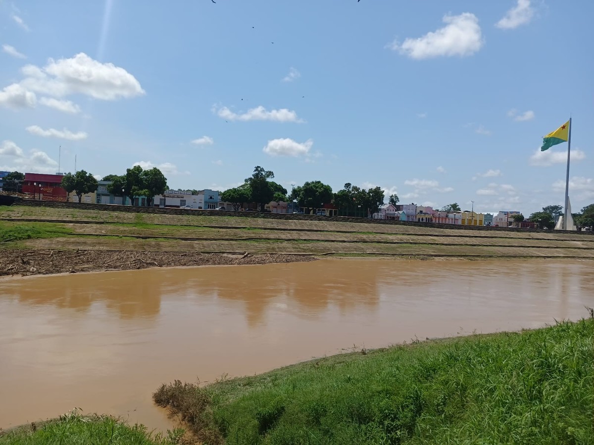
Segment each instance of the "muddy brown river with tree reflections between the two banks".
[{"label": "muddy brown river with tree reflections between the two banks", "polygon": [[165,430],[162,382],[587,316],[594,262],[328,259],[0,281],[0,427],[74,407]]}]

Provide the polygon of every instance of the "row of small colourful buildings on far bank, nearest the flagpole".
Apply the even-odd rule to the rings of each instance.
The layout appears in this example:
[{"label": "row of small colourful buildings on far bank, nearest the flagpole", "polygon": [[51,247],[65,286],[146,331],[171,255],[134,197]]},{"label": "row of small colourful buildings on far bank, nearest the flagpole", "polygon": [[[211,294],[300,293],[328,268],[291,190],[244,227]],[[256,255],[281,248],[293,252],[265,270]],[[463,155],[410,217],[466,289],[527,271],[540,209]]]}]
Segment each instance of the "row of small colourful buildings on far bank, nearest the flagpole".
[{"label": "row of small colourful buildings on far bank, nearest the flagpole", "polygon": [[[513,216],[518,211],[500,211],[497,215],[491,213],[477,213],[475,211],[444,212],[435,210],[431,206],[416,204],[384,204],[380,210],[372,215],[378,220],[399,220],[415,222],[437,222],[440,224],[483,225],[488,227],[510,227],[514,224]],[[521,223],[521,227],[533,227],[530,221]]]}]

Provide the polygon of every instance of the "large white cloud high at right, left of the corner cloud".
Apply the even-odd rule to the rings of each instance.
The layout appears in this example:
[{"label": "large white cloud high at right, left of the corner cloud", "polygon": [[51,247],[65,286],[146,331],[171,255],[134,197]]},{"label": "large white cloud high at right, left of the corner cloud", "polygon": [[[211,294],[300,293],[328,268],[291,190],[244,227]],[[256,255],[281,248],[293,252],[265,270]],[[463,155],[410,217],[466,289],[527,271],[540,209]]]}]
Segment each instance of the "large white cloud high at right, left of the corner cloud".
[{"label": "large white cloud high at right, left of the corner cloud", "polygon": [[418,39],[406,39],[402,45],[394,40],[388,47],[418,60],[438,56],[470,56],[481,49],[483,40],[476,15],[470,12],[444,15],[443,21],[446,25],[437,31],[426,33]]}]

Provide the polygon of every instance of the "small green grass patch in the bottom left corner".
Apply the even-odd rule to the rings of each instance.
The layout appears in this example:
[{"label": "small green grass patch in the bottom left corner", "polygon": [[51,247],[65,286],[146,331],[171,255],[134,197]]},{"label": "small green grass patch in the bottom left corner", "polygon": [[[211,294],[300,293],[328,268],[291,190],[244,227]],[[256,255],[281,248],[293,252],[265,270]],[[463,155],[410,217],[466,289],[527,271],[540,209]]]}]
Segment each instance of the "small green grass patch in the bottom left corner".
[{"label": "small green grass patch in the bottom left corner", "polygon": [[2,445],[173,445],[184,430],[152,434],[144,425],[130,426],[109,416],[86,417],[72,411],[58,419],[0,432]]}]

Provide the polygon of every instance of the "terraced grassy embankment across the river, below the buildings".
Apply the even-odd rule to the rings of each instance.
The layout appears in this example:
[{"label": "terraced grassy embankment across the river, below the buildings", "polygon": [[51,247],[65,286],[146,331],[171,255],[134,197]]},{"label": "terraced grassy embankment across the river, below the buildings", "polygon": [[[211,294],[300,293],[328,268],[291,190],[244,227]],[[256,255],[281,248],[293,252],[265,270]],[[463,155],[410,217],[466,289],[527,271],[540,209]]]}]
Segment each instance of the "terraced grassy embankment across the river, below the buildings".
[{"label": "terraced grassy embankment across the river, below the buildings", "polygon": [[326,255],[594,259],[594,236],[587,233],[27,204],[0,207],[0,246],[5,249],[0,274],[285,262]]}]

